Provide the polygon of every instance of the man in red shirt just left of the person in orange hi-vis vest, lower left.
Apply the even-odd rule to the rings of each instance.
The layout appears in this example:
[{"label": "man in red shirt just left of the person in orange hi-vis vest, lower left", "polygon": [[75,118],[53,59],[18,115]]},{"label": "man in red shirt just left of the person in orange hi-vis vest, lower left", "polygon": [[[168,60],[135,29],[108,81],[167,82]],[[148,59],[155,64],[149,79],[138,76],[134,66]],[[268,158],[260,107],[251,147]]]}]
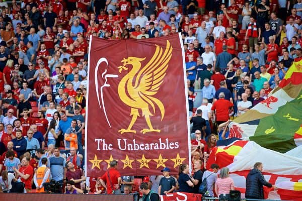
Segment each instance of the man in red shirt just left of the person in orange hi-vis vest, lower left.
[{"label": "man in red shirt just left of the person in orange hi-vis vest, lower left", "polygon": [[14,170],[17,174],[16,178],[20,177],[21,181],[25,184],[26,192],[30,192],[32,189],[32,179],[34,176],[34,168],[29,165],[30,158],[23,157],[21,160],[21,167],[20,169],[16,169],[14,167]]}]

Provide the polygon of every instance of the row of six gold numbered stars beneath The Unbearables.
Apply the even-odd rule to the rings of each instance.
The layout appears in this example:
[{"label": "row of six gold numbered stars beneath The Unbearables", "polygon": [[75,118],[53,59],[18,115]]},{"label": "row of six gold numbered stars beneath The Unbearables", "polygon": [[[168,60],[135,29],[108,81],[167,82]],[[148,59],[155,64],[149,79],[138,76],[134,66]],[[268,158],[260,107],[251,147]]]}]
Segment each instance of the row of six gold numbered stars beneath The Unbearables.
[{"label": "row of six gold numbered stars beneath The Unbearables", "polygon": [[[95,167],[101,169],[101,168],[100,168],[100,163],[101,163],[102,161],[105,161],[106,163],[108,163],[107,168],[109,168],[109,167],[110,167],[110,162],[113,161],[113,160],[117,160],[117,161],[118,161],[118,159],[113,159],[113,157],[112,157],[111,154],[110,154],[110,157],[109,157],[108,160],[98,159],[97,154],[95,154],[94,159],[90,159],[89,161],[92,163],[91,169],[93,169],[93,168],[95,168]],[[149,163],[150,161],[152,161],[152,160],[155,161],[155,162],[157,163],[157,167],[156,167],[157,169],[158,169],[159,167],[166,167],[165,162],[166,162],[167,160],[172,160],[172,161],[174,162],[174,167],[173,167],[173,168],[176,168],[177,166],[179,166],[180,164],[182,164],[182,162],[183,162],[184,160],[186,160],[186,158],[181,158],[181,157],[179,156],[179,153],[177,153],[176,158],[171,158],[171,159],[163,158],[163,157],[162,157],[162,154],[160,154],[159,157],[158,157],[157,159],[146,159],[145,156],[144,156],[143,154],[142,154],[141,159],[136,159],[136,161],[138,161],[138,162],[140,163],[139,169],[141,169],[142,167],[146,167],[146,168],[149,169],[149,164],[148,164],[148,163]],[[134,160],[134,159],[129,159],[128,154],[126,154],[126,158],[125,158],[124,160],[120,160],[120,161],[122,161],[122,162],[124,163],[123,169],[125,169],[126,167],[129,167],[129,168],[132,169],[132,163],[133,163],[133,161],[135,161],[135,160]]]}]

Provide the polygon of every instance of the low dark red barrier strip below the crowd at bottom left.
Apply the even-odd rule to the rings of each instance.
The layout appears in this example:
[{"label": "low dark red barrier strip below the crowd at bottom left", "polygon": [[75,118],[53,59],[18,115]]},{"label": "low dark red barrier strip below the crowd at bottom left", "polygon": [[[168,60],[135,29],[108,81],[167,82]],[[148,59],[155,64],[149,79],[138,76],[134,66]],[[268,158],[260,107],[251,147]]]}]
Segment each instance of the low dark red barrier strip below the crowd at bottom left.
[{"label": "low dark red barrier strip below the crowd at bottom left", "polygon": [[0,200],[13,201],[133,201],[133,195],[0,193]]}]

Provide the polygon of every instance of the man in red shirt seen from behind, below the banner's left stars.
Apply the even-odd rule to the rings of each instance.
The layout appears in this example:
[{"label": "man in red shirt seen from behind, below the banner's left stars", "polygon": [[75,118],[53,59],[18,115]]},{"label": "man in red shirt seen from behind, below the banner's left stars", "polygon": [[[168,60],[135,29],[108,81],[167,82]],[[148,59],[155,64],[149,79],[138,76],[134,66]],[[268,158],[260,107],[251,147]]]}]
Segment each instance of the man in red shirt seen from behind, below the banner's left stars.
[{"label": "man in red shirt seen from behind, below the banner's left stars", "polygon": [[116,160],[110,162],[110,168],[103,174],[100,181],[104,188],[107,189],[107,194],[121,194],[119,186],[122,182],[122,178],[117,170]]}]

